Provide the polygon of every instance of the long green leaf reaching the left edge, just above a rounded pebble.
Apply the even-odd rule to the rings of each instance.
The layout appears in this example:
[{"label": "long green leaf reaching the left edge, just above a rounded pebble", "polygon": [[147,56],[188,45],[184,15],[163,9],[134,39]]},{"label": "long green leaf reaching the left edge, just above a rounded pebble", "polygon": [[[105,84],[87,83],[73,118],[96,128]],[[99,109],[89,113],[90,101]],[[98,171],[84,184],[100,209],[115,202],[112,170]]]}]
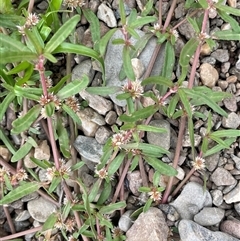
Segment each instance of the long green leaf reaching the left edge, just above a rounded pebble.
[{"label": "long green leaf reaching the left edge, just above a rounded pebble", "polygon": [[37,182],[24,183],[8,193],[6,196],[2,197],[0,200],[0,205],[12,203],[28,194],[36,192],[41,187],[41,184]]}]

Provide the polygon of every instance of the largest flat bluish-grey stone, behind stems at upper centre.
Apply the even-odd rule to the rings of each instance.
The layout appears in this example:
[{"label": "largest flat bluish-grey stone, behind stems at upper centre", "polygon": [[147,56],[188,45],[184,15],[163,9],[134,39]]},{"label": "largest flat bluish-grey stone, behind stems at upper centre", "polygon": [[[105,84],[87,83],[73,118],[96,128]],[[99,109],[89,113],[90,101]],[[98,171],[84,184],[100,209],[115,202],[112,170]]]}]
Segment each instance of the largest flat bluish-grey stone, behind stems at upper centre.
[{"label": "largest flat bluish-grey stone, behind stems at upper centre", "polygon": [[[136,30],[137,33],[141,38],[144,37],[145,33],[140,30]],[[123,46],[122,45],[113,45],[112,41],[114,39],[123,38],[123,34],[120,30],[117,30],[112,38],[110,39],[105,55],[105,70],[106,70],[106,86],[123,86],[127,80],[121,81],[119,79],[119,73],[122,69],[122,52],[123,52]],[[136,39],[131,38],[131,43],[134,45],[136,43]],[[151,38],[146,45],[146,47],[142,50],[138,58],[141,60],[144,68],[146,69],[149,65],[150,58],[152,56],[152,52],[157,44],[156,38]],[[113,61],[114,60],[114,61]],[[157,57],[157,60],[154,64],[152,75],[156,76],[160,74],[161,66],[163,65],[164,60],[164,48],[161,48],[160,53]],[[116,103],[119,106],[125,106],[126,101],[123,100],[117,100],[116,95],[118,95],[121,92],[111,94],[110,98],[113,100],[114,103]]]}]

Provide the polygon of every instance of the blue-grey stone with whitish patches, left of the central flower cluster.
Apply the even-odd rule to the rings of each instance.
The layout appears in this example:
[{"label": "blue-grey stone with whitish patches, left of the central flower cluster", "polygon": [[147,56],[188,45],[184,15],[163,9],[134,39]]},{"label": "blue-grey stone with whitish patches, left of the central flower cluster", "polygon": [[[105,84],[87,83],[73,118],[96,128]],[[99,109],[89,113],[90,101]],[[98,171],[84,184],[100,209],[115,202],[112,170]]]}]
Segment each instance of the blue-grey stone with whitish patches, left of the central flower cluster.
[{"label": "blue-grey stone with whitish patches, left of the central flower cluster", "polygon": [[74,142],[74,147],[81,156],[95,163],[99,163],[103,154],[103,145],[92,137],[78,136]]}]

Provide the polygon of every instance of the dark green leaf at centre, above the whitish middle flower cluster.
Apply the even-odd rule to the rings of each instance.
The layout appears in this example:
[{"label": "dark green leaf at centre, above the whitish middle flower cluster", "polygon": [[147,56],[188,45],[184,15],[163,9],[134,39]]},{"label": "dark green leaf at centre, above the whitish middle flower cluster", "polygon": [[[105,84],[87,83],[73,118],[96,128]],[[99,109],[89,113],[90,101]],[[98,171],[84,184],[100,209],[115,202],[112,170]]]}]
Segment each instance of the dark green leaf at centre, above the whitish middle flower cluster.
[{"label": "dark green leaf at centre, above the whitish middle flower cluster", "polygon": [[149,116],[153,115],[157,111],[158,111],[157,106],[148,106],[144,109],[135,111],[131,115],[123,114],[119,117],[119,119],[124,122],[125,121],[126,122],[135,122],[135,121],[139,121],[139,120],[148,118]]}]

